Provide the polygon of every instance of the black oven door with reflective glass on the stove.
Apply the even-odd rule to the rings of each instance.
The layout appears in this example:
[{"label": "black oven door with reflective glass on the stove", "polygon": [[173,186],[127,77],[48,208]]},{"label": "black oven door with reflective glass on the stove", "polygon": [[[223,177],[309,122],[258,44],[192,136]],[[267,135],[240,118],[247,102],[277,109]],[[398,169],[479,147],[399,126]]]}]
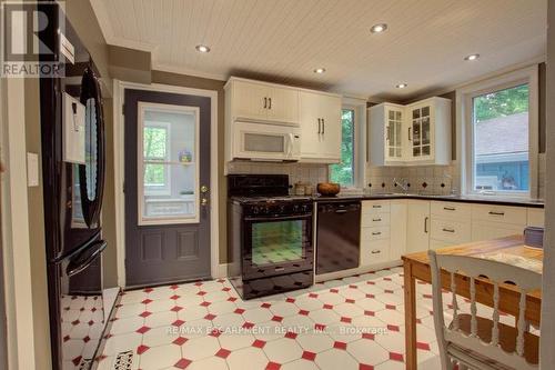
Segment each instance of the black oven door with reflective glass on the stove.
[{"label": "black oven door with reflective glass on the stove", "polygon": [[242,248],[244,280],[311,270],[312,214],[245,217]]}]

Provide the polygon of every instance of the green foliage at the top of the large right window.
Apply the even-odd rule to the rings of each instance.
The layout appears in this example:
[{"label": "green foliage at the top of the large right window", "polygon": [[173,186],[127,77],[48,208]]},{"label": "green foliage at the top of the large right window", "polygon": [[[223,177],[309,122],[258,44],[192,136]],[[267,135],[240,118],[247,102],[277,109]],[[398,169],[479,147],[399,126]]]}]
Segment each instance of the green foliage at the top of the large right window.
[{"label": "green foliage at the top of the large right window", "polygon": [[527,111],[528,84],[521,84],[474,98],[476,122]]}]

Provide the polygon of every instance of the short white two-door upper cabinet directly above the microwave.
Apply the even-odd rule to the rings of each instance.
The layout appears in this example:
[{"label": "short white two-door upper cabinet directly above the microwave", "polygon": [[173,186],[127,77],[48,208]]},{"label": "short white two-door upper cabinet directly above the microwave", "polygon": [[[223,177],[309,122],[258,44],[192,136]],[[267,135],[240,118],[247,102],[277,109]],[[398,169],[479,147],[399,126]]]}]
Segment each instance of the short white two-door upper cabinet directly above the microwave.
[{"label": "short white two-door upper cabinet directly above the microwave", "polygon": [[234,120],[299,123],[297,89],[232,78],[226,92]]}]

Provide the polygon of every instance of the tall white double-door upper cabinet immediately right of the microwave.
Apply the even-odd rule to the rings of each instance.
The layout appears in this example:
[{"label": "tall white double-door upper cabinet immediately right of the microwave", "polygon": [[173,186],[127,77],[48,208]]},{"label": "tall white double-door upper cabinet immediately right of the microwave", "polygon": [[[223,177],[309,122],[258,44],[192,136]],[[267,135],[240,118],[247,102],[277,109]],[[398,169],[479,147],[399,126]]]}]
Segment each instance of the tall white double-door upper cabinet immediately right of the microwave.
[{"label": "tall white double-door upper cabinet immediately right of the microwave", "polygon": [[337,163],[341,160],[340,96],[300,91],[301,160]]}]

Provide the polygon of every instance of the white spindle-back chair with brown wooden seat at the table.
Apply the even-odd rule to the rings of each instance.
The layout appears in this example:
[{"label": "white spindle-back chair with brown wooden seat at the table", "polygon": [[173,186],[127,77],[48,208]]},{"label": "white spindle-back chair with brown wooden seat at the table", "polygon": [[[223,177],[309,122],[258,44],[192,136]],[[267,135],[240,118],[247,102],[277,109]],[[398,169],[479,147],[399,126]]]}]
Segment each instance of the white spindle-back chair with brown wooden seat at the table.
[{"label": "white spindle-back chair with brown wooden seat at the table", "polygon": [[[542,276],[535,271],[521,267],[503,263],[490,259],[481,259],[467,256],[438,254],[434,250],[428,251],[430,266],[432,268],[432,291],[434,303],[434,323],[440,347],[443,369],[448,369],[450,356],[455,356],[456,348],[475,351],[485,358],[498,362],[505,367],[517,369],[538,369],[537,364],[528,363],[525,358],[525,341],[528,324],[526,322],[526,293],[542,288]],[[445,308],[442,296],[442,270],[446,271],[451,279],[453,321],[445,322]],[[464,312],[464,306],[458,306],[457,288],[461,287],[457,274],[468,277],[470,313]],[[483,280],[493,284],[493,313],[491,318],[478,317],[476,296],[480,290],[483,293]],[[512,283],[519,289],[518,322],[516,332],[516,346],[512,352],[506,352],[501,343],[504,326],[500,322],[500,289],[502,284]],[[463,308],[463,309],[462,309]],[[490,320],[491,338],[484,339],[483,324]],[[488,332],[488,331],[486,331]],[[488,340],[488,342],[485,342]],[[514,342],[513,342],[514,343]],[[451,346],[455,344],[455,347]],[[450,352],[453,351],[453,352]],[[450,354],[451,353],[451,354]]]}]

